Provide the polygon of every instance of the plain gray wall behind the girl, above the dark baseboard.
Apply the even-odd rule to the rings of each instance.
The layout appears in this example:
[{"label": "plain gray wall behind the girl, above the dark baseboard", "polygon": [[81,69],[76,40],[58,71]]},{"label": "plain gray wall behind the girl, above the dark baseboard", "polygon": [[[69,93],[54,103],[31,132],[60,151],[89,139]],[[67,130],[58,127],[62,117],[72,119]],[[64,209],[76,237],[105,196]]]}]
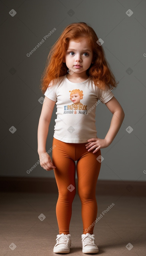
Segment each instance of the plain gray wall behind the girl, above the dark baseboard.
[{"label": "plain gray wall behind the girl, above the dark baseboard", "polygon": [[[36,164],[37,129],[41,113],[40,77],[51,46],[63,28],[72,22],[86,22],[102,38],[106,59],[120,81],[114,95],[123,107],[125,119],[113,143],[102,149],[100,180],[146,180],[146,1],[7,1],[1,5],[1,176],[54,177]],[[16,11],[10,12],[11,9]],[[129,17],[126,12],[131,9]],[[9,14],[10,12],[10,14]],[[130,11],[131,12],[131,11]],[[14,15],[14,16],[11,16]],[[26,54],[51,31],[37,50]],[[55,111],[47,138],[52,147]],[[112,114],[97,106],[98,137],[104,138]],[[16,131],[11,133],[11,127]],[[133,131],[128,133],[126,128]],[[131,129],[131,128],[130,128]],[[14,131],[14,128],[13,128]],[[33,165],[29,174],[26,172]]]}]

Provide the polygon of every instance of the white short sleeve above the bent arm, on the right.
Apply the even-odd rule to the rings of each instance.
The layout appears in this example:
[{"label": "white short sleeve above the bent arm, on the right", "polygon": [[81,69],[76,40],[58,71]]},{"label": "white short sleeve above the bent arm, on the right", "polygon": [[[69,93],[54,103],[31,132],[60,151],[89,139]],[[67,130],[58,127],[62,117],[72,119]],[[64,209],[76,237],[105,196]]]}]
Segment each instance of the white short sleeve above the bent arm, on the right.
[{"label": "white short sleeve above the bent arm, on the right", "polygon": [[102,103],[107,103],[110,99],[114,97],[114,93],[112,92],[113,88],[109,88],[108,85],[106,85],[105,90],[101,90],[99,88],[99,96],[98,100],[100,100]]}]

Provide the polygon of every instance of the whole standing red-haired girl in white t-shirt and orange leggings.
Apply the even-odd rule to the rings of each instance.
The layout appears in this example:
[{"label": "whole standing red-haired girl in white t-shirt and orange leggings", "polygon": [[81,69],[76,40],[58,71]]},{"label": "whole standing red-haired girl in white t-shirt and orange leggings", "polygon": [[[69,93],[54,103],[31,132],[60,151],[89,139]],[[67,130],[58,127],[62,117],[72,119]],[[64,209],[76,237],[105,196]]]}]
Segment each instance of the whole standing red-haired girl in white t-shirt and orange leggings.
[{"label": "whole standing red-haired girl in white t-shirt and orange leggings", "polygon": [[[100,149],[112,143],[124,119],[124,111],[112,92],[116,86],[95,31],[84,22],[69,24],[48,55],[41,83],[45,99],[38,125],[38,154],[40,158],[45,156],[40,165],[46,171],[54,170],[59,190],[56,204],[59,234],[54,253],[70,252],[69,224],[76,194],[76,171],[82,203],[82,251],[86,254],[99,251],[93,229],[97,218],[95,189],[101,166]],[[95,127],[95,109],[100,101],[113,114],[105,138],[97,137]],[[46,139],[55,103],[55,147],[51,160],[46,152]]]}]

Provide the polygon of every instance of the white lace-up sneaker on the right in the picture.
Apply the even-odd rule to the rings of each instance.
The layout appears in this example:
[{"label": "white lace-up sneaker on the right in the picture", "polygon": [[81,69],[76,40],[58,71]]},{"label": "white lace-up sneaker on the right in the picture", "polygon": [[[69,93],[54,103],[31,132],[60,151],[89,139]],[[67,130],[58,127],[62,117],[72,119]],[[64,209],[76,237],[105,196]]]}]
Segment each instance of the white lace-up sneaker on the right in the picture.
[{"label": "white lace-up sneaker on the right in the picture", "polygon": [[86,233],[82,235],[82,252],[83,253],[98,253],[98,247],[95,242],[95,235],[91,235],[90,233]]}]

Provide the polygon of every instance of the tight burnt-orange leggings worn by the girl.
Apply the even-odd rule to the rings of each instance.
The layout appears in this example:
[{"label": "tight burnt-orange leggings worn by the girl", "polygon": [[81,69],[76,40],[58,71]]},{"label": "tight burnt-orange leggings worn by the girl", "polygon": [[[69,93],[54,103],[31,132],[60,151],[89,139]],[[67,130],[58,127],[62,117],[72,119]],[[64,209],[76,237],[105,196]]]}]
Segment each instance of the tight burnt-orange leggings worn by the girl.
[{"label": "tight burnt-orange leggings worn by the girl", "polygon": [[[93,234],[97,218],[97,201],[95,189],[101,163],[96,159],[101,151],[87,151],[86,143],[66,143],[53,137],[52,162],[59,191],[56,204],[56,217],[59,234],[69,234],[72,202],[76,194],[75,175],[77,170],[78,195],[82,203],[83,234]],[[75,161],[77,160],[77,166]],[[95,223],[95,222],[94,222]]]}]

